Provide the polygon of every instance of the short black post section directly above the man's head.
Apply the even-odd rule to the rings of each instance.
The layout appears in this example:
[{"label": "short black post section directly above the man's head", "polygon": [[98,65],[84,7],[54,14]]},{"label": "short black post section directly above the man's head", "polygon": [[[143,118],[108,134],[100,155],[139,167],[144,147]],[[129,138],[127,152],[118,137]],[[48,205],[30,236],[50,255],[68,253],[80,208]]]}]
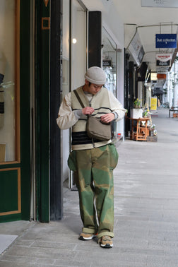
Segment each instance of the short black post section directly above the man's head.
[{"label": "short black post section directly above the man's head", "polygon": [[88,68],[101,67],[102,20],[100,11],[90,11],[88,17]]}]

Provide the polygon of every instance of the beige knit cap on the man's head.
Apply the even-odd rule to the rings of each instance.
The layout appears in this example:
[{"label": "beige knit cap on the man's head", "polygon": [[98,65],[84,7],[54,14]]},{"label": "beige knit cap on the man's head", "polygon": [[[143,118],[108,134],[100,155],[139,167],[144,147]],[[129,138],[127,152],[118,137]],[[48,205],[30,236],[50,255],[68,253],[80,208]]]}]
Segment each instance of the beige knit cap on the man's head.
[{"label": "beige knit cap on the man's head", "polygon": [[87,72],[85,73],[85,79],[90,83],[103,85],[106,82],[106,74],[103,69],[93,66],[90,67]]}]

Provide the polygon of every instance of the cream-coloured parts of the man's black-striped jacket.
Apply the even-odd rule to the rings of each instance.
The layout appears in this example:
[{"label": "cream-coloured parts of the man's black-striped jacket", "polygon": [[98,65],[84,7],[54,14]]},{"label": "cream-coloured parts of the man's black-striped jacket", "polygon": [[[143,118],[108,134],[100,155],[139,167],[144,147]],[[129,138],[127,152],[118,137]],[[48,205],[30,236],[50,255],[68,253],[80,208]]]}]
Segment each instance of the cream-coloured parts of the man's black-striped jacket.
[{"label": "cream-coloured parts of the man's black-striped jacket", "polygon": [[[78,88],[78,93],[81,96],[81,99],[83,101],[83,104],[85,106],[89,106],[88,99],[85,97],[85,94],[83,93],[82,87]],[[72,128],[73,134],[77,134],[75,132],[84,133],[85,131],[85,125],[87,121],[87,117],[83,114],[81,114],[81,118],[78,119],[76,117],[76,109],[82,109],[80,103],[78,100],[75,100],[75,97],[73,97],[73,92],[67,94],[64,97],[64,100],[61,103],[61,106],[59,108],[58,118],[57,118],[57,125],[61,130]],[[75,103],[72,103],[71,100]],[[101,103],[104,103],[101,105]],[[94,113],[96,113],[96,116],[100,117],[102,115],[102,106],[106,107],[105,109],[108,112],[115,112],[117,114],[117,119],[115,121],[119,121],[120,119],[124,118],[126,109],[122,107],[121,103],[117,100],[114,95],[108,91],[106,88],[102,88],[96,95],[93,95],[91,106],[96,110]],[[75,108],[73,108],[75,107]],[[97,109],[100,111],[97,113]],[[104,112],[103,112],[104,114]],[[95,143],[95,147],[105,146],[107,143],[111,143],[112,141],[97,141]],[[82,150],[82,149],[91,149],[93,148],[93,143],[82,143],[82,144],[76,144],[72,143],[72,149],[73,150]]]}]

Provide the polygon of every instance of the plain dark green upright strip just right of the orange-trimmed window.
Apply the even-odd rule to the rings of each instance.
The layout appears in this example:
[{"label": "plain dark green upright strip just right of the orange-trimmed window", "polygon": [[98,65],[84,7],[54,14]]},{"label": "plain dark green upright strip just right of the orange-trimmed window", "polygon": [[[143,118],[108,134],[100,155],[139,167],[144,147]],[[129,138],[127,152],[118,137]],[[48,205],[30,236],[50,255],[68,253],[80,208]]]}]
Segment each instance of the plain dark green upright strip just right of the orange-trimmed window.
[{"label": "plain dark green upright strip just right of the orange-trimmed window", "polygon": [[[20,158],[21,158],[20,175],[22,177],[21,179],[22,213],[20,220],[29,220],[30,217],[30,35],[29,32],[30,32],[30,1],[25,1],[25,2],[20,1]],[[6,112],[6,107],[5,107],[5,112]],[[10,188],[11,187],[9,186],[8,190],[10,190]],[[1,216],[1,218],[3,217],[4,216]],[[11,215],[9,215],[9,217],[11,217]]]}]

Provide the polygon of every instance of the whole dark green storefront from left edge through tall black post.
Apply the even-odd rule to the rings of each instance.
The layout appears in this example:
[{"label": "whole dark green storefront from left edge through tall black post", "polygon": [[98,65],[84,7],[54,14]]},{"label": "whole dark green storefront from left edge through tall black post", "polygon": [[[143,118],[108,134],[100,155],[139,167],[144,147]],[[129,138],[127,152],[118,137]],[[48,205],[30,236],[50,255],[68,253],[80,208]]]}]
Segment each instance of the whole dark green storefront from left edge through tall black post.
[{"label": "whole dark green storefront from left edge through tall black post", "polygon": [[0,222],[59,220],[61,1],[1,0],[0,14]]}]

